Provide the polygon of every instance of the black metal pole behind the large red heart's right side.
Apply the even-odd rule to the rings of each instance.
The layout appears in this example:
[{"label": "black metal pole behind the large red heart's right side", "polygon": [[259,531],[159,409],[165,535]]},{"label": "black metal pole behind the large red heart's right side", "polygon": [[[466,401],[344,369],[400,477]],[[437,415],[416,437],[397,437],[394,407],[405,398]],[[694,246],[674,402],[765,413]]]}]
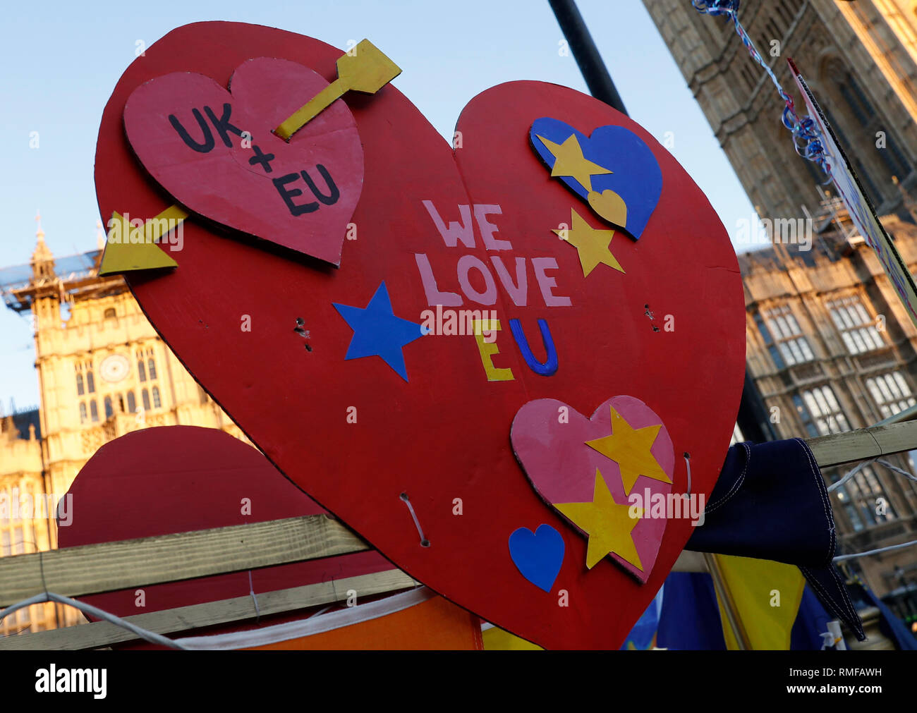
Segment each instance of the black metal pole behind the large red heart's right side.
[{"label": "black metal pole behind the large red heart's right side", "polygon": [[[580,67],[586,86],[596,99],[609,104],[622,114],[627,114],[621,95],[612,82],[612,76],[602,61],[602,55],[595,47],[589,28],[583,22],[580,9],[575,0],[547,0],[558,18],[558,25],[567,38],[567,44],[573,52],[573,59]],[[742,402],[739,406],[739,429],[750,441],[773,441],[778,436],[768,418],[768,409],[761,399],[761,394],[751,378],[746,366],[745,386],[742,389]]]}]

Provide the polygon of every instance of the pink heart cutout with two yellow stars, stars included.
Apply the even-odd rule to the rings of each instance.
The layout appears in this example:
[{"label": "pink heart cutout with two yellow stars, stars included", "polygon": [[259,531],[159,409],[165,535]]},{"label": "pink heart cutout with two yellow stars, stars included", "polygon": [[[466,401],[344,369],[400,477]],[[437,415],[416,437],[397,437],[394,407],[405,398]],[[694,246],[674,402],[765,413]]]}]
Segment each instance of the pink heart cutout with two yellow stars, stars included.
[{"label": "pink heart cutout with two yellow stars, stars included", "polygon": [[646,582],[671,514],[652,507],[668,502],[675,466],[662,419],[632,396],[606,400],[591,419],[538,399],[516,413],[511,438],[538,495],[588,538],[586,568],[611,555]]}]

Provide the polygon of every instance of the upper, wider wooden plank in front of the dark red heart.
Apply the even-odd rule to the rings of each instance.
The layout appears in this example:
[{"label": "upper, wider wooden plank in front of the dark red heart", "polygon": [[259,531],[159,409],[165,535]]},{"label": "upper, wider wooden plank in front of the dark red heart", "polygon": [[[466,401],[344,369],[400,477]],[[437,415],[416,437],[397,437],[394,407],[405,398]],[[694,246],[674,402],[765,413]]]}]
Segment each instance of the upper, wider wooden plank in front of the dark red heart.
[{"label": "upper, wider wooden plank in front of the dark red heart", "polygon": [[0,558],[0,607],[46,589],[79,597],[368,549],[340,522],[308,515],[20,554]]}]

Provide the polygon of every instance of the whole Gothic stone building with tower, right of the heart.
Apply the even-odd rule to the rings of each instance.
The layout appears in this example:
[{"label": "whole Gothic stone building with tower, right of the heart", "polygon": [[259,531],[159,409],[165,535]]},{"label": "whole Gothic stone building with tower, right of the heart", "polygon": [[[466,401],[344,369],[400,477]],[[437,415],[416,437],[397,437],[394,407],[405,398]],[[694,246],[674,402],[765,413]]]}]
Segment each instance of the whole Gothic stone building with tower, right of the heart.
[{"label": "whole Gothic stone building with tower, right of the heart", "polygon": [[[826,198],[821,171],[796,155],[766,72],[724,16],[689,0],[644,5],[759,216],[803,218],[812,239],[809,251],[777,245],[740,256],[747,368],[777,435],[848,431],[913,406],[917,330],[843,206]],[[795,60],[914,273],[917,0],[743,0],[739,17],[802,114],[786,61]],[[887,461],[917,472],[911,455]],[[830,484],[847,470],[823,475]],[[886,466],[863,467],[832,501],[842,552],[917,540],[917,484]],[[879,596],[897,597],[900,615],[917,620],[917,548],[855,562]]]}]

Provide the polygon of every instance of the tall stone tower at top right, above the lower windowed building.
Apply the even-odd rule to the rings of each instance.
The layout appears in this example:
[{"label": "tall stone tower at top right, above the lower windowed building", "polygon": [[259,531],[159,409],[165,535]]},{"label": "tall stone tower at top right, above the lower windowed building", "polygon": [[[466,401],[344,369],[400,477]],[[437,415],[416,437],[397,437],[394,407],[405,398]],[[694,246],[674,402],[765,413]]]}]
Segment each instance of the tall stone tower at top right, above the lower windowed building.
[{"label": "tall stone tower at top right, above the lower windowed building", "polygon": [[[758,214],[815,213],[824,176],[796,156],[783,100],[733,23],[690,0],[644,5]],[[917,0],[743,0],[739,17],[804,114],[787,58],[799,66],[878,214],[901,208],[893,177],[917,196]]]}]

